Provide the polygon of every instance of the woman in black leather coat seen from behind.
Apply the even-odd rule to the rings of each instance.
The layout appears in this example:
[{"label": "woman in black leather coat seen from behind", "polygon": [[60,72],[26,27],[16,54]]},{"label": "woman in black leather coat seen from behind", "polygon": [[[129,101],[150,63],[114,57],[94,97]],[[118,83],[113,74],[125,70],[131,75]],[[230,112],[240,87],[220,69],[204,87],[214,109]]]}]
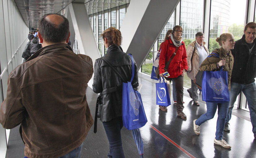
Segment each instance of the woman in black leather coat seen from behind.
[{"label": "woman in black leather coat seen from behind", "polygon": [[[131,58],[122,51],[121,32],[114,27],[106,29],[101,36],[104,45],[108,48],[104,58],[122,75],[125,82],[131,79]],[[135,73],[132,86],[135,90],[139,85],[137,66],[134,62]],[[109,141],[108,157],[123,158],[124,152],[121,141],[122,121],[122,83],[120,77],[102,59],[95,61],[94,65],[93,91],[100,93],[101,103],[99,105],[98,116],[102,121]]]}]

